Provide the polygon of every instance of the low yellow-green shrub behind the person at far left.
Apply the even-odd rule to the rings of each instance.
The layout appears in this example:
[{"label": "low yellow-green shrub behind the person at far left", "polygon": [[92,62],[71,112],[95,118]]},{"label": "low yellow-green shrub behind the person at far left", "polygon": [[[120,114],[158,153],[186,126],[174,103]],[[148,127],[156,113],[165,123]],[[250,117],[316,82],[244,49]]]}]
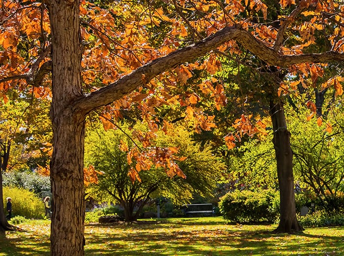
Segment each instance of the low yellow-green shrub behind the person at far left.
[{"label": "low yellow-green shrub behind the person at far left", "polygon": [[23,188],[3,187],[3,204],[6,211],[6,198],[12,198],[12,215],[41,219],[45,214],[43,201],[34,193]]}]

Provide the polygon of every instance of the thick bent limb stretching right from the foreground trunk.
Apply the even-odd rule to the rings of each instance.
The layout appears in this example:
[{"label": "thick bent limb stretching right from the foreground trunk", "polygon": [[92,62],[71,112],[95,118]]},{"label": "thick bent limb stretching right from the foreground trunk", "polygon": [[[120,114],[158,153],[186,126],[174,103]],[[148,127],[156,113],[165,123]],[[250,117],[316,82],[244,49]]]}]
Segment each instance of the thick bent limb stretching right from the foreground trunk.
[{"label": "thick bent limb stretching right from the foreground trunk", "polygon": [[303,62],[333,62],[344,61],[344,54],[338,52],[309,53],[299,55],[282,55],[278,51],[267,47],[263,42],[255,38],[249,31],[240,26],[225,27],[215,34],[205,38],[201,42],[174,51],[167,56],[155,59],[132,73],[121,77],[116,82],[111,83],[75,102],[74,110],[79,110],[87,114],[94,109],[110,104],[139,86],[148,83],[152,78],[166,72],[179,64],[190,62],[217,47],[235,40],[245,49],[251,51],[259,59],[269,65],[287,67],[292,64]]}]

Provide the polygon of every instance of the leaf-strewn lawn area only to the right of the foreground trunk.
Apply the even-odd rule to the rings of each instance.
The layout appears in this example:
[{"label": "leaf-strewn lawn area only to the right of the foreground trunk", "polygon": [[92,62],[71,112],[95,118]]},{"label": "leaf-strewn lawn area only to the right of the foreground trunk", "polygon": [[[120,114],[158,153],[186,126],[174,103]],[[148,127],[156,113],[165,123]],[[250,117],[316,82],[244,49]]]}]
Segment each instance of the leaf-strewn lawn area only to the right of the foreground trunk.
[{"label": "leaf-strewn lawn area only to the right of the foreground trunk", "polygon": [[[344,255],[344,228],[309,229],[303,234],[273,234],[275,226],[226,225],[211,218],[90,229],[88,255]],[[141,223],[142,224],[142,223]],[[93,231],[93,232],[92,232]],[[110,232],[112,232],[110,234]],[[98,233],[98,235],[94,235]],[[111,236],[111,237],[109,237]]]}]

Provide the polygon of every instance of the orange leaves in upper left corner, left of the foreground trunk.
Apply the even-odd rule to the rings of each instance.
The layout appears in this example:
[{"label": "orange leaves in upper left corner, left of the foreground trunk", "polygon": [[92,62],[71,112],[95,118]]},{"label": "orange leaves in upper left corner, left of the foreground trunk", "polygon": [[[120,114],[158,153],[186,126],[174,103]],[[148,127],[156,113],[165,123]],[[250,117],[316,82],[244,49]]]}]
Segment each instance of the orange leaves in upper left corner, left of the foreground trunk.
[{"label": "orange leaves in upper left corner, left of the foreground trunk", "polygon": [[[35,65],[39,54],[49,45],[41,35],[50,34],[49,17],[42,3],[35,1],[1,1],[0,11],[0,97],[7,102],[13,88],[25,91],[28,77],[40,65]],[[42,58],[43,60],[44,58]],[[38,63],[37,63],[38,64]],[[9,79],[14,77],[14,79]],[[30,82],[34,81],[31,79]],[[34,97],[50,95],[47,86],[31,88]],[[9,93],[10,94],[10,93]]]}]

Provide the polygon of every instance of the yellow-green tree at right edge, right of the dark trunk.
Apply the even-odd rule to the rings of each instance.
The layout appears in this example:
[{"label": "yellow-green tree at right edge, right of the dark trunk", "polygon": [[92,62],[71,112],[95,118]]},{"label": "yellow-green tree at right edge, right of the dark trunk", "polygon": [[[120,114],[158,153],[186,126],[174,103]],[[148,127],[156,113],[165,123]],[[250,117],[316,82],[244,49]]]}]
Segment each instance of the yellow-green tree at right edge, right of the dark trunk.
[{"label": "yellow-green tree at right edge, right of the dark trunk", "polygon": [[[318,198],[325,201],[343,191],[344,185],[344,155],[341,150],[344,133],[340,125],[343,124],[340,105],[341,103],[335,102],[326,121],[318,117],[307,123],[302,122],[302,118],[305,118],[309,111],[305,113],[302,111],[305,107],[300,107],[299,115],[294,115],[294,122],[290,124],[290,129],[295,133],[291,138],[295,155],[295,175],[307,184]],[[331,133],[328,132],[329,129]]]}]

